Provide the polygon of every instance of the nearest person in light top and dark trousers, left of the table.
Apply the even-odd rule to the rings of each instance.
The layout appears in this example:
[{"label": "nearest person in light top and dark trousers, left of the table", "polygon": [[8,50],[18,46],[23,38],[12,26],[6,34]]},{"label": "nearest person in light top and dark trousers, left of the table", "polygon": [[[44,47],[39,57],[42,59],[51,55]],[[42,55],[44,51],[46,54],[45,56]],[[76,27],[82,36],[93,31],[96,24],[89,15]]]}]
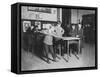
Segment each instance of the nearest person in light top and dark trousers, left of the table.
[{"label": "nearest person in light top and dark trousers, left of the table", "polygon": [[53,51],[53,36],[52,36],[54,33],[54,28],[51,24],[47,24],[47,26],[49,26],[49,28],[43,30],[43,33],[45,34],[43,43],[44,43],[45,54],[47,57],[47,63],[50,63],[49,52],[52,54],[53,61],[56,61],[56,55]]}]

